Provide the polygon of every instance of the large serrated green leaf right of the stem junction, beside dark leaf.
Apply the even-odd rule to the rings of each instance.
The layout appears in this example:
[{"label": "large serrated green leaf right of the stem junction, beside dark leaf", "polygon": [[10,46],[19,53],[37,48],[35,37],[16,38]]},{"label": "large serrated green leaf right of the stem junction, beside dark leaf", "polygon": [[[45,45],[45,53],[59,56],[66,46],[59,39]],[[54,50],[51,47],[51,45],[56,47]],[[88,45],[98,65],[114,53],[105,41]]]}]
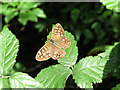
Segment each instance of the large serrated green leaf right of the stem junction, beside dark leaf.
[{"label": "large serrated green leaf right of the stem junction, beside dark leaf", "polygon": [[89,56],[81,59],[73,68],[73,78],[80,88],[93,88],[92,83],[102,82],[105,58]]}]

